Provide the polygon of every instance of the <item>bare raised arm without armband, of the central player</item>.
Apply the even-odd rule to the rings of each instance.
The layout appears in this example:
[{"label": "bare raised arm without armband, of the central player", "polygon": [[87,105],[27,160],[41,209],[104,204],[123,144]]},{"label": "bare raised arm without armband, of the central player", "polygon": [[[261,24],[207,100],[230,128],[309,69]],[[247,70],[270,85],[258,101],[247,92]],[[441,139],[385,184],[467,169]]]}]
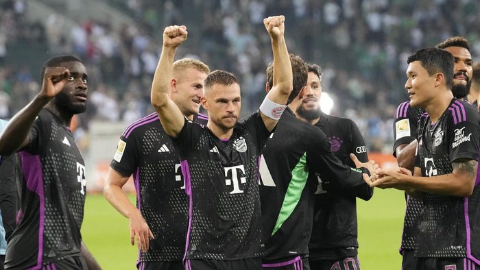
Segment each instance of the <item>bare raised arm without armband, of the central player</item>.
[{"label": "bare raised arm without armband, of the central player", "polygon": [[173,77],[173,58],[176,49],[187,39],[187,27],[168,26],[163,31],[163,47],[152,82],[150,100],[162,126],[169,136],[176,137],[184,125],[184,116],[180,108],[169,97],[171,78]]}]

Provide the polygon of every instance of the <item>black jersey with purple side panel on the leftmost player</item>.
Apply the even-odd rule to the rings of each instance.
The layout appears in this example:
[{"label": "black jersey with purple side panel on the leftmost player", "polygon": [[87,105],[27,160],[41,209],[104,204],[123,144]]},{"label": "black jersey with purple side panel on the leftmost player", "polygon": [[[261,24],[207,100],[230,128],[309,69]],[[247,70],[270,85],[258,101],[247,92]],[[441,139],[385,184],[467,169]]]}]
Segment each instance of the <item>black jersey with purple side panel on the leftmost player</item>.
[{"label": "black jersey with purple side panel on the leftmost player", "polygon": [[8,241],[5,269],[41,268],[80,256],[85,166],[70,130],[42,110],[20,151],[19,224]]}]

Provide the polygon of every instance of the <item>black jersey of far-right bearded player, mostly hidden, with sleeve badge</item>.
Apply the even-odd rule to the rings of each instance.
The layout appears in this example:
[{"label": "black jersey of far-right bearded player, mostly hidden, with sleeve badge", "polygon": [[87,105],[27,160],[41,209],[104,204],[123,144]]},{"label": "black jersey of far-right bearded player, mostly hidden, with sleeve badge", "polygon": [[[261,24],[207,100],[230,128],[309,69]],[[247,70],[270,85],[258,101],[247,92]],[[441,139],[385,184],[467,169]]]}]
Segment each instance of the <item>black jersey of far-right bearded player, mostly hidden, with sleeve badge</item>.
[{"label": "black jersey of far-right bearded player, mostly hidden, with sleeve badge", "polygon": [[[400,145],[409,144],[416,140],[418,121],[420,116],[425,113],[424,108],[413,108],[409,101],[401,103],[395,112],[394,119],[394,156],[396,148]],[[403,219],[402,243],[400,250],[415,249],[416,234],[418,230],[418,219],[423,208],[423,201],[408,196],[405,193],[407,207]]]}]

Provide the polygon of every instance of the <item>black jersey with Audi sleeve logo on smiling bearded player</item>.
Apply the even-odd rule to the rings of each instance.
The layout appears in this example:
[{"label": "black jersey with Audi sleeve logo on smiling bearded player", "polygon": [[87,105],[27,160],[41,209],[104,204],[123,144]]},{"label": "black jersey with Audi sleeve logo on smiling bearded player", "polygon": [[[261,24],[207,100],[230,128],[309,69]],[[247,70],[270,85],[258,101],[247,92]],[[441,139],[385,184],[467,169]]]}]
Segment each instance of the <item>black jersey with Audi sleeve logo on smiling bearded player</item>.
[{"label": "black jersey with Audi sleeve logo on smiling bearded player", "polygon": [[[368,162],[367,149],[359,128],[350,119],[322,113],[315,126],[325,132],[330,150],[350,167],[355,163],[350,153],[361,162]],[[330,187],[330,180],[319,177],[315,192],[313,231],[309,243],[311,258],[334,260],[357,255],[357,197],[368,200],[373,188],[361,180],[353,188]]]}]

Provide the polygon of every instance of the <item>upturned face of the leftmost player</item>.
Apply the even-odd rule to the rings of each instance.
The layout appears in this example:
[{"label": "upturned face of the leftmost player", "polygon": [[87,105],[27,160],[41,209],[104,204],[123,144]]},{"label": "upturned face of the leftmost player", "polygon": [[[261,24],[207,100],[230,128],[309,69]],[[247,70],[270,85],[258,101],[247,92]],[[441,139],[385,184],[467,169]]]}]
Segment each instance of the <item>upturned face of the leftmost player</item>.
[{"label": "upturned face of the leftmost player", "polygon": [[85,66],[77,61],[63,62],[60,66],[69,69],[70,77],[67,78],[67,84],[62,91],[53,99],[53,103],[69,114],[85,112],[88,90]]}]

